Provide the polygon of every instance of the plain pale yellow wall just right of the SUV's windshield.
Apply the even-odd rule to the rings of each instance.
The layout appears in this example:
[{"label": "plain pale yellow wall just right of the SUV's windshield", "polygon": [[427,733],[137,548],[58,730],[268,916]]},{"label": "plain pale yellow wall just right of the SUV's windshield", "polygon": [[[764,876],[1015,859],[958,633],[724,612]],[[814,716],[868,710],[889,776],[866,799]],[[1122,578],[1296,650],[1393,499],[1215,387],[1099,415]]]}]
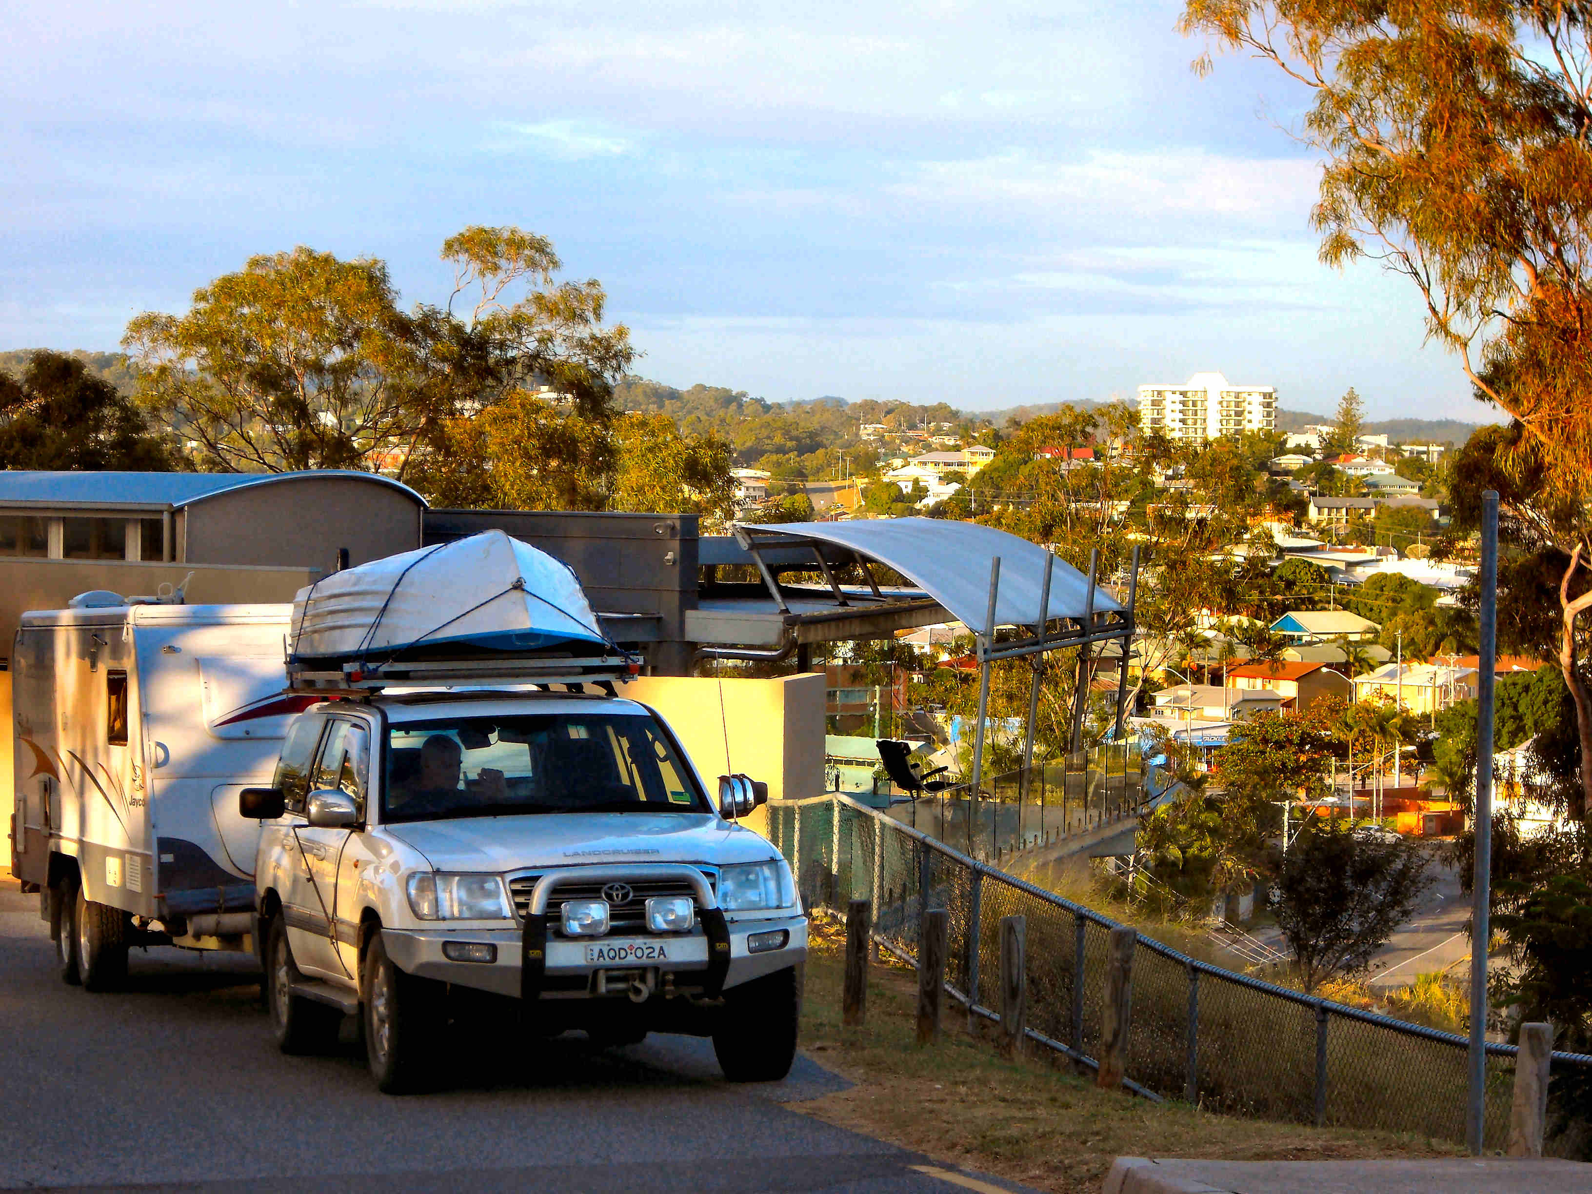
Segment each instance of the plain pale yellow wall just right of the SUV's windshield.
[{"label": "plain pale yellow wall just right of the SUV's windshield", "polygon": [[651,705],[716,793],[720,775],[769,785],[769,799],[823,793],[821,672],[774,680],[640,677],[619,694]]}]

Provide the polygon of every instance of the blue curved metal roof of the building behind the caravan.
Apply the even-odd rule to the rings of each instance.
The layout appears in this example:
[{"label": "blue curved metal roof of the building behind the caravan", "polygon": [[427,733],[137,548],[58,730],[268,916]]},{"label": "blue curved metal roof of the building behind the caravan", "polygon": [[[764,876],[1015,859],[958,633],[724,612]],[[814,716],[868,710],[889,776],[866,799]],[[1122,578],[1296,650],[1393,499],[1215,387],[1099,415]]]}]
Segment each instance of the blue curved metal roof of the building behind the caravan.
[{"label": "blue curved metal roof of the building behind the caravan", "polygon": [[301,473],[33,473],[0,470],[0,506],[181,508],[217,494],[250,486],[291,484],[306,478],[349,478],[403,490],[419,505],[425,498],[380,473],[342,468]]}]

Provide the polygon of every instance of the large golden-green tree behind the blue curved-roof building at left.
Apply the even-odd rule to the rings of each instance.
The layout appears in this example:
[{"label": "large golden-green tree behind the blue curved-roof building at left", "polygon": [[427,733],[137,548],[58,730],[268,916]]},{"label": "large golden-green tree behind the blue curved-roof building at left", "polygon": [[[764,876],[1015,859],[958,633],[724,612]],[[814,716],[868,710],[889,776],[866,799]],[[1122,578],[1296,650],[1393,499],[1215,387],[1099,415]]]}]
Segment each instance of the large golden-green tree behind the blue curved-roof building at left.
[{"label": "large golden-green tree behind the blue curved-roof building at left", "polygon": [[[624,325],[603,325],[595,280],[554,282],[551,244],[517,228],[466,228],[441,256],[455,267],[454,296],[411,310],[376,258],[302,245],[253,256],[194,291],[185,315],[127,325],[140,396],[197,444],[205,468],[224,471],[404,478],[444,451],[451,420],[530,384],[586,419],[608,416],[635,352]],[[466,293],[473,307],[455,315]]]}]

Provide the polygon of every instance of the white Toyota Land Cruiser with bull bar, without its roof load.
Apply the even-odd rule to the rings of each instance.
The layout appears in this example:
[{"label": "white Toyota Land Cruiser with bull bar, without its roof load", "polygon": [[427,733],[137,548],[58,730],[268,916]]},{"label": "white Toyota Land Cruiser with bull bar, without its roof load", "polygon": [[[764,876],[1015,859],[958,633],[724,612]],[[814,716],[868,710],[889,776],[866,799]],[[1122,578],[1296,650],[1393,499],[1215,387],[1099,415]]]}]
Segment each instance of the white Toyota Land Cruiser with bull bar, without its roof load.
[{"label": "white Toyota Land Cruiser with bull bar, without its roof load", "polygon": [[451,995],[533,1003],[607,1044],[713,1038],[732,1081],[796,1051],[807,920],[790,868],[713,801],[661,716],[578,693],[326,700],[288,729],[264,821],[256,949],[283,1052],[361,1017],[376,1084],[423,1086]]}]

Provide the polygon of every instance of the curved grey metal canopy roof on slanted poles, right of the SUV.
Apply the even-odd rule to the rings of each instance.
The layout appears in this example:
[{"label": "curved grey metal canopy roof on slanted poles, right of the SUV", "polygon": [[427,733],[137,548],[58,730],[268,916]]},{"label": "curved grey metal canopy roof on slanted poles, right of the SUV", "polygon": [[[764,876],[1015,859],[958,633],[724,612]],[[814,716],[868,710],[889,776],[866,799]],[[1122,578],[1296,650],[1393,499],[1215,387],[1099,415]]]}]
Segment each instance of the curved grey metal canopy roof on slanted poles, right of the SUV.
[{"label": "curved grey metal canopy roof on slanted poles, right of the SUV", "polygon": [[[837,543],[895,568],[939,602],[954,618],[982,634],[989,610],[990,560],[1000,557],[997,626],[1033,626],[1040,619],[1040,587],[1051,552],[995,527],[955,519],[858,519],[853,522],[763,522],[759,535],[799,535]],[[1089,578],[1055,557],[1051,573],[1051,618],[1083,618]],[[1095,613],[1121,610],[1100,586]]]}]

